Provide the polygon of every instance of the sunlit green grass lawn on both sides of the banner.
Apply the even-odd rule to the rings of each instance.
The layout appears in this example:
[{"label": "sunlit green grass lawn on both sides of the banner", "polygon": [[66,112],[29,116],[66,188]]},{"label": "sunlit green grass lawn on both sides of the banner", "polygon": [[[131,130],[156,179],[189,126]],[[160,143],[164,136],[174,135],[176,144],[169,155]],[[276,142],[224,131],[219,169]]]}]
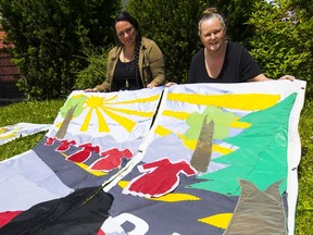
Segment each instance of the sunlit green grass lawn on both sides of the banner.
[{"label": "sunlit green grass lawn on both sides of the banner", "polygon": [[[0,107],[0,127],[18,122],[53,123],[65,100],[26,101]],[[301,112],[299,133],[302,143],[302,159],[299,165],[299,197],[296,213],[296,235],[310,235],[313,228],[313,101],[306,101]],[[32,149],[45,133],[20,137],[0,146],[0,160]]]}]

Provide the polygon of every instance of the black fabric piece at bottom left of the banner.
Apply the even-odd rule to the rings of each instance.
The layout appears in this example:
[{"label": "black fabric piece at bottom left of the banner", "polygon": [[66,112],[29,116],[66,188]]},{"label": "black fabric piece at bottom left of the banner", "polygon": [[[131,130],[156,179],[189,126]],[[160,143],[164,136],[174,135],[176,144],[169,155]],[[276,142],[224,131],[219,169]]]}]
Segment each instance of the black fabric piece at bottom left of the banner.
[{"label": "black fabric piece at bottom left of the banner", "polygon": [[101,187],[80,188],[38,203],[0,230],[1,235],[96,235],[109,217],[113,196]]}]

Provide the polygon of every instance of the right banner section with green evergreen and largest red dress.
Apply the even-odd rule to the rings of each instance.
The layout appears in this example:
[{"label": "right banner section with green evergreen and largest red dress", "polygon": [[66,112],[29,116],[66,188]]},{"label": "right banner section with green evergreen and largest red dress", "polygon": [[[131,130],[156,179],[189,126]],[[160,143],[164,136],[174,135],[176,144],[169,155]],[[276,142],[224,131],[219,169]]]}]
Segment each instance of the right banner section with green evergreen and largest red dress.
[{"label": "right banner section with green evergreen and largest red dress", "polygon": [[112,217],[127,233],[292,234],[304,88],[172,86],[141,152],[108,186],[127,201]]}]

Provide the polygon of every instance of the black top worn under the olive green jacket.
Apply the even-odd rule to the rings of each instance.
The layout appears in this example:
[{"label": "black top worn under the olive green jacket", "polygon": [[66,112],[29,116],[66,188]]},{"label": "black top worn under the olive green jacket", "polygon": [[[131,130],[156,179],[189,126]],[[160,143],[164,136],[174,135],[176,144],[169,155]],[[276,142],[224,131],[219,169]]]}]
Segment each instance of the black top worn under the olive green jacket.
[{"label": "black top worn under the olive green jacket", "polygon": [[116,90],[135,90],[143,87],[138,72],[138,78],[136,78],[135,60],[129,62],[122,62],[121,59],[117,60],[116,67],[114,71],[114,77],[116,82]]}]

